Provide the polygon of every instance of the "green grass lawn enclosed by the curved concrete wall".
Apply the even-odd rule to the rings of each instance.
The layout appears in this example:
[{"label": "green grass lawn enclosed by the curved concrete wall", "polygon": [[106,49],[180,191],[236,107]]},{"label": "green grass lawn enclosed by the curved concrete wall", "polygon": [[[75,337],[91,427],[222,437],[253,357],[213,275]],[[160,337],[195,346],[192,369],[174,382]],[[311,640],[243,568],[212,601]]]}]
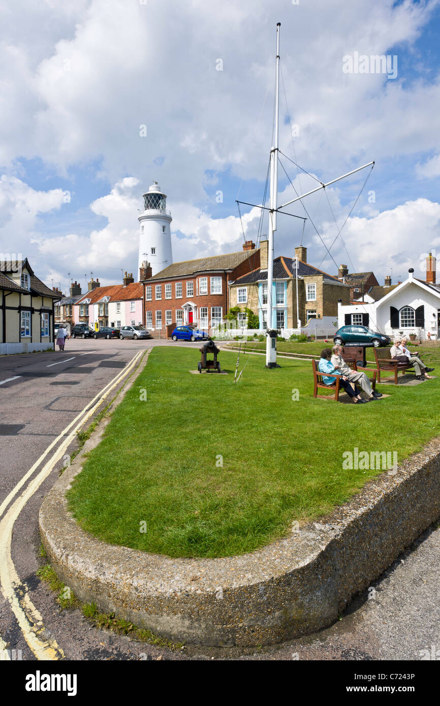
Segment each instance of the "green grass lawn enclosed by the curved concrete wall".
[{"label": "green grass lawn enclosed by the curved concrete wall", "polygon": [[440,433],[440,378],[381,385],[391,397],[356,407],[314,400],[310,361],[266,370],[262,357],[242,357],[234,384],[237,353],[219,356],[227,376],[191,375],[199,357],[150,353],[69,490],[84,530],[169,556],[242,554],[289,534],[293,520],[325,515],[378,473],[343,469],[343,451],[397,451],[401,462]]}]

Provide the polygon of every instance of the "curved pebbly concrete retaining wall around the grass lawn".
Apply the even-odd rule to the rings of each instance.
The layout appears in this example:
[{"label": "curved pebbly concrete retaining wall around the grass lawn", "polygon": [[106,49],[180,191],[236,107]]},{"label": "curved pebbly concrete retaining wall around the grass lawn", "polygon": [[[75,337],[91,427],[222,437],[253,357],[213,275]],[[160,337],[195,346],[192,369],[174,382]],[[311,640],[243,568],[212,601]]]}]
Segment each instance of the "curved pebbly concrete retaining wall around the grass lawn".
[{"label": "curved pebbly concrete retaining wall around the grass lawn", "polygon": [[325,520],[251,554],[176,559],[112,546],[79,527],[65,497],[107,421],[44,499],[42,542],[82,601],[170,640],[266,645],[326,628],[440,516],[437,438]]}]

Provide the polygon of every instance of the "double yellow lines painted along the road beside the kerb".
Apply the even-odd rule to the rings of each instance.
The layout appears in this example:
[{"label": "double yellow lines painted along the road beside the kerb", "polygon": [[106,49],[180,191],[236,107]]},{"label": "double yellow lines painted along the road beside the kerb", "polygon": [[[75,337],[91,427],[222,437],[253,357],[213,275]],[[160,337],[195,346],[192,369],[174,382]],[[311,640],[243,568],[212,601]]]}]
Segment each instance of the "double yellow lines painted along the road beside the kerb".
[{"label": "double yellow lines painted along the road beside the kerb", "polygon": [[[0,513],[4,511],[3,508],[5,506],[5,503],[7,505],[10,501],[10,498],[15,496],[20,487],[23,486],[23,482],[25,482],[24,478],[29,477],[29,474],[35,470],[35,467],[40,465],[41,460],[47,455],[49,449],[53,448],[54,445],[57,443],[58,448],[54,455],[52,455],[52,457],[45,463],[40,473],[37,474],[37,476],[35,476],[35,478],[30,481],[28,487],[25,489],[25,491],[23,491],[23,493],[21,493],[21,495],[16,499],[13,505],[11,505],[11,507],[8,509],[8,511],[0,522],[1,592],[4,595],[5,599],[8,601],[11,610],[13,611],[13,614],[16,616],[18,625],[20,626],[20,630],[23,633],[23,638],[25,638],[26,642],[30,647],[30,650],[32,650],[33,654],[35,654],[35,657],[37,657],[37,659],[57,660],[59,659],[59,657],[64,657],[64,652],[63,650],[61,650],[61,647],[59,647],[55,640],[49,641],[44,638],[44,635],[42,634],[44,633],[42,616],[32,604],[29,594],[25,592],[24,596],[18,599],[18,596],[16,594],[16,587],[20,586],[20,588],[23,589],[23,587],[26,588],[26,586],[24,582],[20,581],[11,556],[11,539],[13,534],[13,526],[16,520],[18,519],[18,516],[20,515],[21,511],[25,507],[26,503],[28,503],[35,491],[37,491],[40,485],[49,476],[49,474],[52,472],[54,465],[57,463],[57,461],[59,461],[59,459],[61,459],[66,449],[69,448],[70,443],[76,438],[77,431],[81,429],[83,424],[85,424],[85,421],[90,419],[90,417],[94,414],[97,408],[100,407],[100,405],[109,395],[109,393],[115,387],[117,387],[121,379],[127,376],[127,374],[136,366],[139,359],[143,357],[144,353],[145,352],[143,351],[139,351],[138,353],[136,353],[136,355],[131,360],[131,363],[126,368],[124,368],[121,373],[118,373],[116,376],[114,376],[112,381],[105,385],[105,387],[102,388],[101,392],[94,397],[93,401],[89,402],[88,405],[84,407],[83,411],[77,415],[76,419],[74,419],[73,422],[69,424],[69,426],[67,426],[66,429],[64,429],[64,431],[59,434],[57,439],[55,439],[55,441],[50,444],[49,448],[47,448],[46,452],[44,452],[44,454],[42,454],[42,456],[38,460],[37,465],[34,464],[32,466],[32,469],[30,469],[30,471],[25,474],[25,477],[23,477],[23,479],[19,481],[13,491],[9,493],[9,496],[8,498],[6,498],[6,501],[1,505]],[[95,400],[97,401],[95,402]],[[95,402],[95,405],[90,408],[90,404],[93,404],[93,402]],[[83,415],[84,410],[87,409],[88,412],[83,416],[82,419],[80,419],[80,421],[78,421],[78,424],[76,424],[76,426],[71,429],[75,421],[77,421],[78,418],[81,418],[81,415]],[[71,429],[69,435],[64,438],[64,441],[61,441],[68,429]]]}]

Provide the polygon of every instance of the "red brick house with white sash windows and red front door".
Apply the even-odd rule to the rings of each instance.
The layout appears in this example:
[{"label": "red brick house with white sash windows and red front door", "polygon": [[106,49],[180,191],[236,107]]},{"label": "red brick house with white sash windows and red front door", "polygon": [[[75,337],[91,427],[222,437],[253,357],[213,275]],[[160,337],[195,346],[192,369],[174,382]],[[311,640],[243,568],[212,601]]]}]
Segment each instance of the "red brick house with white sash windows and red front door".
[{"label": "red brick house with white sash windows and red front door", "polygon": [[208,329],[221,323],[230,308],[230,280],[259,265],[259,250],[246,241],[242,252],[173,263],[153,277],[140,268],[146,328],[194,324]]}]

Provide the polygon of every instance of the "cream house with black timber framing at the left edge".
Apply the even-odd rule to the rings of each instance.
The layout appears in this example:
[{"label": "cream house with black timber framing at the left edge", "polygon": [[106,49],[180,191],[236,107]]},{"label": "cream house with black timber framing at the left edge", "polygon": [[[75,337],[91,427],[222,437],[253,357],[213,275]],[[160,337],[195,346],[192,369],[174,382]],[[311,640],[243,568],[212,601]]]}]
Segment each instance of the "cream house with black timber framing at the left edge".
[{"label": "cream house with black timber framing at the left edge", "polygon": [[1,261],[0,354],[53,347],[54,302],[59,299],[59,292],[38,279],[28,258]]}]

